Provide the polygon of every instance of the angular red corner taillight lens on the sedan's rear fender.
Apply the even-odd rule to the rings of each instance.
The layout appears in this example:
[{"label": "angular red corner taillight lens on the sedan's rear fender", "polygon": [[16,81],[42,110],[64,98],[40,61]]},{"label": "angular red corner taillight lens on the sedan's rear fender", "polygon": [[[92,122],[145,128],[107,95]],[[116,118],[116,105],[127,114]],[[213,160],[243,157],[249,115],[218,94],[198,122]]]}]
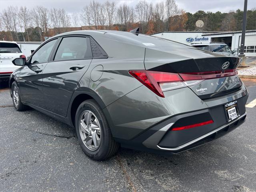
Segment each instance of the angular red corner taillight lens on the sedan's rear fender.
[{"label": "angular red corner taillight lens on the sedan's rear fender", "polygon": [[160,97],[164,97],[159,86],[160,82],[182,81],[182,78],[177,73],[146,70],[129,71],[129,73]]}]

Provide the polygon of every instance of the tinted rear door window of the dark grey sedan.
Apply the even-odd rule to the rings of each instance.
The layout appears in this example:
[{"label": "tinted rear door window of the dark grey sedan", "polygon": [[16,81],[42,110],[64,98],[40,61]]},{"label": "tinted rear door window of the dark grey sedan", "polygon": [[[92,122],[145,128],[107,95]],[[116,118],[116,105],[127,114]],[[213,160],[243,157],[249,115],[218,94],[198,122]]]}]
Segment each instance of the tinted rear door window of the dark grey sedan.
[{"label": "tinted rear door window of the dark grey sedan", "polygon": [[92,58],[86,37],[64,37],[58,47],[54,61]]}]

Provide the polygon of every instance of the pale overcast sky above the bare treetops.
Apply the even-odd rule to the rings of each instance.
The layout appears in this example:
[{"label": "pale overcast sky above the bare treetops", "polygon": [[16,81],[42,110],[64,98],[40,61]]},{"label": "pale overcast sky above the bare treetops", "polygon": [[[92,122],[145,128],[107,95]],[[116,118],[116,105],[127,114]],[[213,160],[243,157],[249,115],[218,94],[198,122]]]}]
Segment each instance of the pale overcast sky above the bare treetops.
[{"label": "pale overcast sky above the bare treetops", "polygon": [[[104,2],[105,0],[98,0]],[[130,6],[135,6],[139,0],[116,0],[118,4],[126,2]],[[161,0],[147,0],[155,4]],[[27,6],[29,9],[36,5],[48,8],[64,8],[67,12],[80,12],[83,6],[89,4],[90,0],[0,0],[0,11],[10,5]],[[176,0],[179,8],[186,12],[194,13],[198,10],[205,12],[229,12],[230,10],[244,9],[244,0]],[[256,0],[248,0],[248,10],[256,8]]]}]

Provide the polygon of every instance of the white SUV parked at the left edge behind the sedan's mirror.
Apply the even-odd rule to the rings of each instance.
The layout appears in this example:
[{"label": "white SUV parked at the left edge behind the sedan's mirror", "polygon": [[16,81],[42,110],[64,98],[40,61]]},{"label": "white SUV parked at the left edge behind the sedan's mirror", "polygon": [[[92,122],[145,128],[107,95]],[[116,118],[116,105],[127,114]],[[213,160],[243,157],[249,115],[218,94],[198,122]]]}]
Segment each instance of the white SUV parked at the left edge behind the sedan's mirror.
[{"label": "white SUV parked at the left edge behind the sedan's mirror", "polygon": [[0,81],[9,80],[12,72],[20,68],[12,64],[12,60],[19,57],[26,58],[16,42],[0,41]]}]

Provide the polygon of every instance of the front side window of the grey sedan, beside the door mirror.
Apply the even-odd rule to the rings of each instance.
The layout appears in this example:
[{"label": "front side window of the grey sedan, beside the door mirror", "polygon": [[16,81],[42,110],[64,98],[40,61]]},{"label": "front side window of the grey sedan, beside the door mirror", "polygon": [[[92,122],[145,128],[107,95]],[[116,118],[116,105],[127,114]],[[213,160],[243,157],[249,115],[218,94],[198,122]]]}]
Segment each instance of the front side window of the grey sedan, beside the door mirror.
[{"label": "front side window of the grey sedan, beside the door mirror", "polygon": [[54,45],[56,44],[58,39],[54,39],[46,44],[44,44],[40,49],[38,49],[35,54],[32,56],[32,59],[30,61],[31,64],[35,63],[45,63],[48,62],[48,58],[52,52],[52,49],[54,48]]}]

